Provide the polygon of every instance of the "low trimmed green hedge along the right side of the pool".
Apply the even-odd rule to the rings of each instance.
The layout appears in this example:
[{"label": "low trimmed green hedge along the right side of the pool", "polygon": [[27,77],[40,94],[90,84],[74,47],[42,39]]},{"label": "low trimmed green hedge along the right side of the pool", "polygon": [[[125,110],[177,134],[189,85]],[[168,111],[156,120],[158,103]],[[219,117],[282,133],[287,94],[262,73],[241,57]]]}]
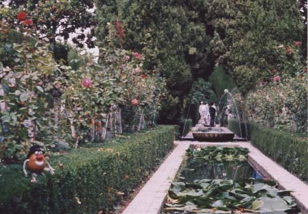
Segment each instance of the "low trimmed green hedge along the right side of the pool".
[{"label": "low trimmed green hedge along the right side of the pool", "polygon": [[[231,123],[230,123],[231,122]],[[237,133],[235,121],[228,128]],[[305,134],[268,128],[257,123],[248,125],[252,144],[287,171],[308,182],[308,142]]]}]

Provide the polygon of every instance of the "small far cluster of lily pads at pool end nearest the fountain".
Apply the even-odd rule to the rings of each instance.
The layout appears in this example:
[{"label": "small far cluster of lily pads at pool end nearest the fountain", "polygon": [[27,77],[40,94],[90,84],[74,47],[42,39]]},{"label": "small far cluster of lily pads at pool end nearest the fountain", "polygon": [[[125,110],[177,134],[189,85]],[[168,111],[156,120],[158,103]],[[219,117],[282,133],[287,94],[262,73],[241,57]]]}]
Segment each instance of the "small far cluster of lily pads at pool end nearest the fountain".
[{"label": "small far cluster of lily pads at pool end nearest the fountain", "polygon": [[248,158],[249,150],[243,147],[215,147],[209,146],[204,148],[187,150],[188,162],[193,164],[202,163],[224,163],[244,162]]}]

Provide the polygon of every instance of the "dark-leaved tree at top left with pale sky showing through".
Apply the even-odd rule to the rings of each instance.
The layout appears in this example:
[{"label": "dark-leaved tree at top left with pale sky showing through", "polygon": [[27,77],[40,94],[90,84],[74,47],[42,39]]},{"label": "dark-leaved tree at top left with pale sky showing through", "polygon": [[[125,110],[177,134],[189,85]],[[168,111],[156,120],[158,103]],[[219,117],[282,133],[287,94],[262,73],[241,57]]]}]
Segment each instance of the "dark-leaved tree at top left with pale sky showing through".
[{"label": "dark-leaved tree at top left with pale sky showing through", "polygon": [[[3,5],[3,3],[2,3]],[[72,41],[78,47],[94,47],[95,12],[93,1],[25,1],[12,0],[11,10],[6,21],[12,26],[18,26],[16,14],[21,11],[27,13],[27,19],[32,19],[32,36],[55,44],[56,38],[67,40],[73,35]],[[88,29],[88,32],[86,32]]]}]

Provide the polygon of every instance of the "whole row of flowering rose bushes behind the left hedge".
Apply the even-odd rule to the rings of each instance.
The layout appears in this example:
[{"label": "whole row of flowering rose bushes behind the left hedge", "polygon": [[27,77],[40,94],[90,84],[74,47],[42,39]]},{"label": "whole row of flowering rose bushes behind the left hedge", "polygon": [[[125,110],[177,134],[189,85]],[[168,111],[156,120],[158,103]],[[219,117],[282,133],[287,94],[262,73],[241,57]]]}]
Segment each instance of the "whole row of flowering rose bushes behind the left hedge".
[{"label": "whole row of flowering rose bushes behind the left hedge", "polygon": [[116,47],[119,24],[108,25],[110,39],[99,65],[71,51],[68,67],[54,60],[49,45],[29,39],[25,17],[25,12],[17,17],[19,32],[13,33],[27,35],[18,43],[11,26],[1,22],[1,159],[21,160],[33,144],[104,141],[107,132],[122,132],[122,120],[132,132],[156,125],[165,80],[143,68],[142,54]]}]

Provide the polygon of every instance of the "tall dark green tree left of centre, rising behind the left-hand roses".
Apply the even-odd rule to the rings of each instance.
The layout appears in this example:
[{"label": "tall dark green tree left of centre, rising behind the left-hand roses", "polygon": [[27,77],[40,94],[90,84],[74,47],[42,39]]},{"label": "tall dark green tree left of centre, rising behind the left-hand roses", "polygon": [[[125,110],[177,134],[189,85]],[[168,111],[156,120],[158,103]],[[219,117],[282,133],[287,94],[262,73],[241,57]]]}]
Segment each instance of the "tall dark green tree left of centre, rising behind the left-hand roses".
[{"label": "tall dark green tree left of centre, rising behind the left-hand roses", "polygon": [[161,122],[176,121],[192,76],[207,77],[213,67],[203,19],[206,3],[96,1],[96,5],[99,47],[106,44],[106,24],[121,20],[126,29],[124,47],[144,53],[147,60],[143,66],[167,79],[169,95],[164,100]]}]

